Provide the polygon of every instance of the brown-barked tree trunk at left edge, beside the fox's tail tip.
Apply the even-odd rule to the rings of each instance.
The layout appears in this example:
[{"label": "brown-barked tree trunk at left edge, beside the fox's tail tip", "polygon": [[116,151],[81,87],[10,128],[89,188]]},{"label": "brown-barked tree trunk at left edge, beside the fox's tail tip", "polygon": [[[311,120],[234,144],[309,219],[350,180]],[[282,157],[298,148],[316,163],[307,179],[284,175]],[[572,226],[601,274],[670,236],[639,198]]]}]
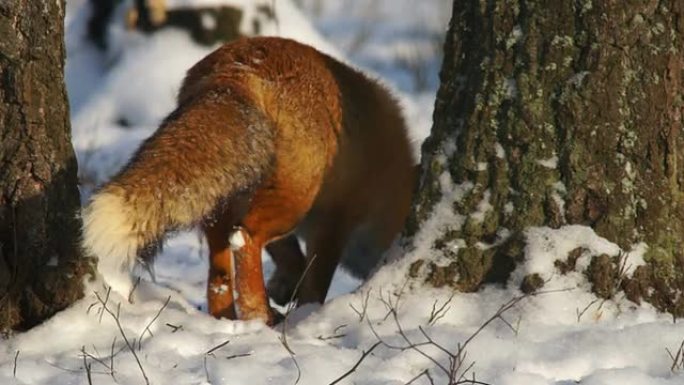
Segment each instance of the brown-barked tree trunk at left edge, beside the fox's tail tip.
[{"label": "brown-barked tree trunk at left edge, beside the fox's tail tip", "polygon": [[0,331],[83,292],[80,206],[64,88],[64,2],[0,2]]}]

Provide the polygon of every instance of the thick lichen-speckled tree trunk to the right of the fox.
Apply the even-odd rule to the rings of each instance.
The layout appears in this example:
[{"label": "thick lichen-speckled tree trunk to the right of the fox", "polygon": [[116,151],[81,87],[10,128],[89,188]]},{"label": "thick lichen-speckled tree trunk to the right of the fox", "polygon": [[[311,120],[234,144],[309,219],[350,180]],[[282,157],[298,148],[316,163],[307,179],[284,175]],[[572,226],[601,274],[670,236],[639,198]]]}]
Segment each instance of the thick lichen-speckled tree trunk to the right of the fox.
[{"label": "thick lichen-speckled tree trunk to the right of the fox", "polygon": [[[428,280],[505,282],[526,229],[582,224],[645,243],[621,288],[684,315],[683,71],[681,0],[454,1],[407,230],[440,202],[455,213],[433,245],[450,263],[424,264]],[[595,289],[592,271],[619,264],[594,259]]]}]

